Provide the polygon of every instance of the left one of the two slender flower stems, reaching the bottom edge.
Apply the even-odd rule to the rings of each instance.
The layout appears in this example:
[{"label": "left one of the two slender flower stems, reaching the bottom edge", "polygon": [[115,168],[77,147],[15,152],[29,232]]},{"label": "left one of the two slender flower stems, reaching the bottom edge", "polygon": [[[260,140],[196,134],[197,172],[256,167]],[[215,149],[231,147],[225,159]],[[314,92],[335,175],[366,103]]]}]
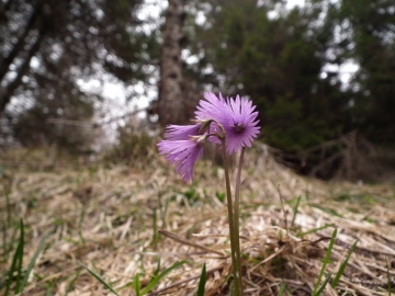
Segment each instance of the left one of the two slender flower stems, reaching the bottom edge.
[{"label": "left one of the two slender flower stems, reaching the bottom edge", "polygon": [[228,161],[228,156],[226,153],[225,139],[222,139],[222,144],[223,144],[223,158],[224,158],[225,183],[226,183],[226,198],[227,198],[228,219],[229,219],[230,257],[232,257],[234,287],[235,287],[234,295],[242,296],[242,282],[241,282],[241,272],[240,272],[241,271],[240,244],[238,241],[239,229],[235,227],[235,220],[234,220],[235,215],[234,215],[233,201],[232,201],[229,161]]}]

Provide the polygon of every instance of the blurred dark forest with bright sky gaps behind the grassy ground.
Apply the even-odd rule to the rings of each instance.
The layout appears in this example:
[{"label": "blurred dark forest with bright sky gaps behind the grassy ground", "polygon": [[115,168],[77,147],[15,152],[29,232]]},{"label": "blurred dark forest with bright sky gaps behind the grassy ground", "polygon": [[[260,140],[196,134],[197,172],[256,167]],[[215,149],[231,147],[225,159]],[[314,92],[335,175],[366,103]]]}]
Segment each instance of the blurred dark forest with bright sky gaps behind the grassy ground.
[{"label": "blurred dark forest with bright sky gaps behind the grassy ground", "polygon": [[133,166],[221,91],[300,173],[395,175],[393,0],[1,0],[0,80],[3,156]]}]

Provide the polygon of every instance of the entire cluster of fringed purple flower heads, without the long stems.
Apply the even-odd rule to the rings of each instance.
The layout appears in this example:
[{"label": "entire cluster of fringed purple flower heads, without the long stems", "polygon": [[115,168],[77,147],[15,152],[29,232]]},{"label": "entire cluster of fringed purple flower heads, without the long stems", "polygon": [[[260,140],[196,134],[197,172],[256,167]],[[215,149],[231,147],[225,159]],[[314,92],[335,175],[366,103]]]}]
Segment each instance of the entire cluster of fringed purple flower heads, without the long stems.
[{"label": "entire cluster of fringed purple flower heads, without the long stems", "polygon": [[195,111],[196,124],[167,126],[165,140],[158,144],[160,155],[176,164],[176,172],[184,181],[192,180],[193,166],[203,155],[205,140],[221,144],[218,137],[225,133],[226,152],[232,155],[242,147],[251,147],[260,129],[251,101],[239,95],[225,100],[221,93],[217,98],[211,92],[206,92],[204,99]]}]

